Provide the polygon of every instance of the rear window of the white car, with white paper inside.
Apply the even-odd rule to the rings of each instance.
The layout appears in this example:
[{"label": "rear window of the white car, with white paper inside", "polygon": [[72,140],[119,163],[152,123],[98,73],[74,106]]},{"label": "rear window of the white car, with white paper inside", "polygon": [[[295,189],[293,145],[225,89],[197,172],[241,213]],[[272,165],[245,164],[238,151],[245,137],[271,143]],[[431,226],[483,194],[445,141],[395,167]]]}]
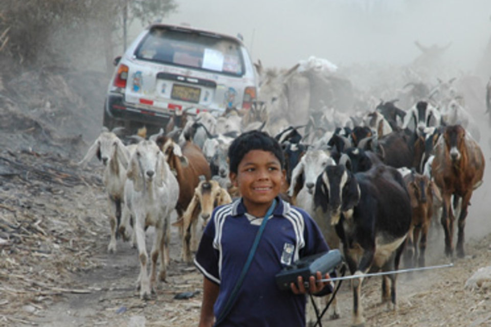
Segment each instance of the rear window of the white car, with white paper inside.
[{"label": "rear window of the white car, with white paper inside", "polygon": [[233,39],[186,30],[152,28],[135,53],[138,59],[242,76],[240,44]]}]

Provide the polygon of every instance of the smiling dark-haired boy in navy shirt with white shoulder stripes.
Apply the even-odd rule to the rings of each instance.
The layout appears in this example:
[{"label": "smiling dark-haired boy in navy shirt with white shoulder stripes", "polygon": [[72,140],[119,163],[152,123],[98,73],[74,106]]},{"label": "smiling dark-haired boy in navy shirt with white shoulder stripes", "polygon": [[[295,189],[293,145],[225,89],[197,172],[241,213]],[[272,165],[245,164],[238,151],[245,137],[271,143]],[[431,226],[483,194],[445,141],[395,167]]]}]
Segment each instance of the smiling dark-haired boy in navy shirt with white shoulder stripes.
[{"label": "smiling dark-haired boy in navy shirt with white shoulder stripes", "polygon": [[[264,132],[237,137],[229,148],[230,180],[241,198],[217,207],[196,252],[204,274],[199,326],[304,326],[305,293],[299,276],[291,291],[280,291],[275,275],[306,255],[328,250],[308,214],[278,196],[285,183],[284,157],[278,142]],[[247,261],[263,217],[264,232],[230,312],[218,322]],[[328,274],[325,276],[328,278]],[[321,279],[320,272],[317,279]],[[309,292],[327,293],[327,283],[310,277]]]}]

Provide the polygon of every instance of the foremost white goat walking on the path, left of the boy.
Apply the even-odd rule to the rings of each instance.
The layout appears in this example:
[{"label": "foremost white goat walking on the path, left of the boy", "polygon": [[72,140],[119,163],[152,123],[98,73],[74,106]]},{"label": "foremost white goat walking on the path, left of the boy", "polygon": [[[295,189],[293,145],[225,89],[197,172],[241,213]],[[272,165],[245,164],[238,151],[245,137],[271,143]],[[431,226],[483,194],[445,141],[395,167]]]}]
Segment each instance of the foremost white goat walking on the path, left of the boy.
[{"label": "foremost white goat walking on the path, left of the boy", "polygon": [[[161,280],[167,275],[169,263],[170,214],[179,196],[179,185],[165,160],[164,153],[154,141],[141,141],[131,156],[124,190],[123,221],[135,218],[135,236],[140,259],[137,287],[140,297],[148,299],[157,278],[157,258]],[[150,253],[150,278],[147,274],[145,229],[155,227],[155,238]]]}]

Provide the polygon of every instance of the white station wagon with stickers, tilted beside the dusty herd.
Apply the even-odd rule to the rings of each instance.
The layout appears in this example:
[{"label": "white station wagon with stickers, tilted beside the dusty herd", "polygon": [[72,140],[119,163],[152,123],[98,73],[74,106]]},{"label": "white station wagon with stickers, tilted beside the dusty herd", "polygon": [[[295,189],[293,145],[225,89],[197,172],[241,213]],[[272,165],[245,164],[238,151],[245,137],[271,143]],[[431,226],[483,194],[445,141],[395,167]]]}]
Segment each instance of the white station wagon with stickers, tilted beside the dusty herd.
[{"label": "white station wagon with stickers, tilted beside the dusty herd", "polygon": [[109,129],[165,127],[175,110],[220,114],[256,98],[251,58],[233,36],[154,24],[118,59],[104,105]]}]

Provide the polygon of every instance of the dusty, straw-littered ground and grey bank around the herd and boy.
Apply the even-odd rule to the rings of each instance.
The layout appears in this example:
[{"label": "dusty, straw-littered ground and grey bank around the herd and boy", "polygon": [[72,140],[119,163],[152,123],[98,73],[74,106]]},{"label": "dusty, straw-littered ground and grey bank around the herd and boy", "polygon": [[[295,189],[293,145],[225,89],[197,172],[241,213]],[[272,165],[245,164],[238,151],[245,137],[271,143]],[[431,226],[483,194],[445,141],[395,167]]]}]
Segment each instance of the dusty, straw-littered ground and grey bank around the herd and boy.
[{"label": "dusty, straw-littered ground and grey bank around the herd and boy", "polygon": [[[136,250],[119,240],[117,252],[107,253],[101,165],[75,164],[100,131],[106,84],[103,75],[42,69],[0,81],[0,325],[197,325],[202,276],[180,262],[177,230],[167,282],[148,301],[135,290]],[[478,118],[488,162],[486,120]],[[380,278],[370,278],[362,299],[367,326],[491,326],[489,289],[464,288],[491,265],[489,184],[486,171],[467,217],[466,257],[452,268],[399,275],[395,312],[380,304]],[[440,229],[432,230],[427,265],[449,262]],[[348,285],[338,295],[341,318],[325,317],[323,325],[350,325]],[[193,296],[174,299],[183,292]]]}]

